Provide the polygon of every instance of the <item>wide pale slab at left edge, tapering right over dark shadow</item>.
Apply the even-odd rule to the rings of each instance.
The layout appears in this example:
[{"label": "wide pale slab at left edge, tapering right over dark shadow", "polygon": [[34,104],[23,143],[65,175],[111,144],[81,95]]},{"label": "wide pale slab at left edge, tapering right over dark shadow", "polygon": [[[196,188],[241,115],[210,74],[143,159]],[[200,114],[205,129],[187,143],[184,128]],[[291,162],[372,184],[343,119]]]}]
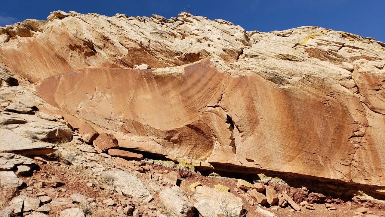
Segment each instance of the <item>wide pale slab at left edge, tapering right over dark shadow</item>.
[{"label": "wide pale slab at left edge, tapering right over dark shadow", "polygon": [[54,153],[57,147],[47,142],[33,142],[17,133],[0,129],[0,153],[22,154],[23,156],[45,155]]}]

